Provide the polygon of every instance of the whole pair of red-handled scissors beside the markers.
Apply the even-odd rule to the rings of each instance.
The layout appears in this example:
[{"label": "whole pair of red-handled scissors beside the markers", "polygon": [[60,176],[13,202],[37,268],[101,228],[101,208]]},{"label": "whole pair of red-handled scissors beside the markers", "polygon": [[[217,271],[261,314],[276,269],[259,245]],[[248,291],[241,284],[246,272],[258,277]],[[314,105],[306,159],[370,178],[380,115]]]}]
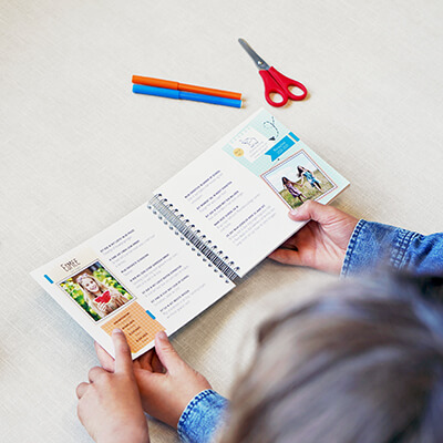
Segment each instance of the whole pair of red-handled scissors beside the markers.
[{"label": "whole pair of red-handled scissors beside the markers", "polygon": [[[265,83],[265,99],[266,101],[275,107],[284,106],[288,103],[288,100],[303,100],[308,94],[308,90],[305,87],[303,84],[297,82],[296,80],[289,79],[278,72],[274,66],[269,66],[268,63],[261,59],[260,55],[254,51],[253,48],[244,39],[238,39],[238,42],[241,44],[244,50],[250,55],[250,58],[256,63],[257,68],[259,69],[259,74]],[[302,91],[301,95],[295,95],[291,93],[289,86],[296,86]],[[270,94],[277,93],[281,95],[281,102],[275,102]]]}]

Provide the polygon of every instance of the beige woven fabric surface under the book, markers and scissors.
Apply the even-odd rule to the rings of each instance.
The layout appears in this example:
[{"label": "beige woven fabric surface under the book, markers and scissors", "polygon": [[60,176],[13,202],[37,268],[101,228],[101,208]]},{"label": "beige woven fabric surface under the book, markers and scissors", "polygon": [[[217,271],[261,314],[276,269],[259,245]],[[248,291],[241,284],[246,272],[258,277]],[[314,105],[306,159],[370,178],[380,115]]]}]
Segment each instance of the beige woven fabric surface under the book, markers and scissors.
[{"label": "beige woven fabric surface under the book, markers and scissors", "polygon": [[[441,230],[442,22],[440,0],[2,0],[0,441],[91,441],[74,392],[96,364],[92,340],[29,271],[143,204],[260,106],[351,182],[337,207]],[[268,106],[239,37],[308,100]],[[134,95],[132,74],[239,91],[245,106]],[[259,321],[331,279],[267,260],[174,343],[228,395]]]}]

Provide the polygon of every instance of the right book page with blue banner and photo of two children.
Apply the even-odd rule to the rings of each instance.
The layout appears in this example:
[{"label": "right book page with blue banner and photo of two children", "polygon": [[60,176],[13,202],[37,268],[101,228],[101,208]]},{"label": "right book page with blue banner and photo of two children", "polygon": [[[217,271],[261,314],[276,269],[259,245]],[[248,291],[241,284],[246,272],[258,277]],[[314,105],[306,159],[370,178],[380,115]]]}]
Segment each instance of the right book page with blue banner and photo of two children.
[{"label": "right book page with blue banner and photo of two children", "polygon": [[156,194],[167,199],[245,276],[305,223],[288,212],[329,203],[349,182],[260,110]]}]

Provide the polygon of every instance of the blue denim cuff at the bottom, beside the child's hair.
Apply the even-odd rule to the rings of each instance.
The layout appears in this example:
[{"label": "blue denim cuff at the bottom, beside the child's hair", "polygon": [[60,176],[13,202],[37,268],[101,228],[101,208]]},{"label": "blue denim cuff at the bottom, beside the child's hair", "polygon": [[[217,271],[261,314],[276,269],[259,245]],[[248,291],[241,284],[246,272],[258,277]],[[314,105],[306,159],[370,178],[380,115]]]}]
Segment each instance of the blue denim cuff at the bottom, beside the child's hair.
[{"label": "blue denim cuff at the bottom, beside the child's hair", "polygon": [[207,389],[194,396],[183,411],[178,421],[178,435],[186,443],[212,442],[215,431],[222,424],[224,413],[229,402]]}]

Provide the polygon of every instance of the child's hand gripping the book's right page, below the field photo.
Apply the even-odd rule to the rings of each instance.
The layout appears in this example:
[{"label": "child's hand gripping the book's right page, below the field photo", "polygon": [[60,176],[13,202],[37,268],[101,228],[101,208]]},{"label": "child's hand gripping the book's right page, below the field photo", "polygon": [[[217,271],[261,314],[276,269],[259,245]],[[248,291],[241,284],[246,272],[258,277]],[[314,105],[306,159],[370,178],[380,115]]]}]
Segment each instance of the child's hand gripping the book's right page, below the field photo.
[{"label": "child's hand gripping the book's right page, below the field photo", "polygon": [[289,217],[296,222],[311,222],[271,253],[269,258],[285,265],[309,266],[340,274],[358,219],[332,206],[311,200],[303,203],[297,212],[290,212]]}]

